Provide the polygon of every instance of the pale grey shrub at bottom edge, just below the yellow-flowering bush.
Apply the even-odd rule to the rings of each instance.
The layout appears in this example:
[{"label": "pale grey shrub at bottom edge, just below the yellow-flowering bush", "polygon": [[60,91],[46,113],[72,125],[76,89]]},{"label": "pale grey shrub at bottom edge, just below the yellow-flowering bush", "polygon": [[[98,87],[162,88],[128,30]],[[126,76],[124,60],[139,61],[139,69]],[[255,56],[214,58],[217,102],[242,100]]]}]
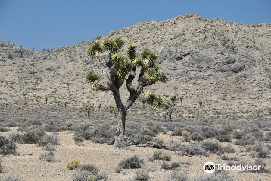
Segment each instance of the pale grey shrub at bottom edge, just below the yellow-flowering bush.
[{"label": "pale grey shrub at bottom edge, just below the yellow-flowering bush", "polygon": [[71,181],[107,181],[108,176],[95,165],[83,164],[73,170],[70,177]]}]

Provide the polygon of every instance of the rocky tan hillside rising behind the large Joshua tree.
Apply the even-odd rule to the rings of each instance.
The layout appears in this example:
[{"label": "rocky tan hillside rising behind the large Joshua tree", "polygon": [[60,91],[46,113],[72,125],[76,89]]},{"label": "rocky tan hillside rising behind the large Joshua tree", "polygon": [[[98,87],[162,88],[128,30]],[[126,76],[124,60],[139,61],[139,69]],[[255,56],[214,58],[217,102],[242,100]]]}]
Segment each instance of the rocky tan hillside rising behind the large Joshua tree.
[{"label": "rocky tan hillside rising behind the large Joshua tree", "polygon": [[[200,98],[206,108],[270,108],[271,23],[247,25],[187,14],[137,23],[105,37],[116,36],[124,37],[126,43],[136,42],[139,51],[148,46],[160,55],[159,65],[173,77],[169,83],[148,88],[158,94],[183,95],[183,105],[188,107],[198,106]],[[32,51],[0,41],[1,104],[24,101],[23,92],[29,92],[26,99],[37,104],[42,96],[54,105],[58,101],[76,107],[112,105],[110,92],[90,92],[84,81],[87,71],[102,75],[103,70],[96,59],[85,55],[91,42]],[[25,52],[22,57],[20,51]],[[66,83],[71,83],[69,89]],[[128,98],[125,87],[121,94]]]}]

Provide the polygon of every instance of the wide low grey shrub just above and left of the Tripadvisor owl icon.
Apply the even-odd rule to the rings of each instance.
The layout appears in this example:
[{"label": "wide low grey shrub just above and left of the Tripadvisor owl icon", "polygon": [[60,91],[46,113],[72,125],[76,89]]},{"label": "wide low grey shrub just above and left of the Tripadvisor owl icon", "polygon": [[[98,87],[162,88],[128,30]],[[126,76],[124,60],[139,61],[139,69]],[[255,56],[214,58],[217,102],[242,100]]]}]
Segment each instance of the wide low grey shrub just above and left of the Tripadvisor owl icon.
[{"label": "wide low grey shrub just above and left of the Tripadvisor owl icon", "polygon": [[178,147],[176,154],[180,155],[204,155],[209,157],[209,152],[198,144],[182,145]]}]

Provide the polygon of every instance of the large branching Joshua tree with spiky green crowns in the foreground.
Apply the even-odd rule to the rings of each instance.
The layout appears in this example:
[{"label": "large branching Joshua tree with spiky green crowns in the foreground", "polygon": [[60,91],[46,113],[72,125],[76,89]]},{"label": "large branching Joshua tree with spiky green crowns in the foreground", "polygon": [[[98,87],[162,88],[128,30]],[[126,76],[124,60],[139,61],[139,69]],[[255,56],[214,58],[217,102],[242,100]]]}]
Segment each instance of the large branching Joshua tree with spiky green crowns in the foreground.
[{"label": "large branching Joshua tree with spiky green crowns in the foreground", "polygon": [[[86,50],[87,56],[96,56],[101,65],[106,69],[107,85],[101,84],[101,76],[93,71],[89,71],[85,78],[86,82],[92,84],[91,90],[112,91],[117,109],[119,112],[116,135],[124,135],[126,111],[136,100],[149,103],[157,108],[164,107],[165,99],[155,94],[143,96],[143,89],[158,81],[166,82],[167,77],[160,67],[155,65],[159,56],[151,52],[149,48],[144,48],[141,54],[136,54],[137,45],[129,43],[126,49],[126,56],[120,55],[120,49],[124,45],[124,40],[117,37],[114,40],[104,39],[102,42],[95,40]],[[104,50],[109,51],[109,58],[106,60],[101,54]],[[137,87],[132,85],[136,78],[136,68],[140,69]],[[126,103],[120,99],[120,87],[126,81],[126,88],[130,93]]]}]

